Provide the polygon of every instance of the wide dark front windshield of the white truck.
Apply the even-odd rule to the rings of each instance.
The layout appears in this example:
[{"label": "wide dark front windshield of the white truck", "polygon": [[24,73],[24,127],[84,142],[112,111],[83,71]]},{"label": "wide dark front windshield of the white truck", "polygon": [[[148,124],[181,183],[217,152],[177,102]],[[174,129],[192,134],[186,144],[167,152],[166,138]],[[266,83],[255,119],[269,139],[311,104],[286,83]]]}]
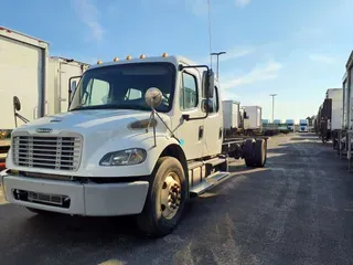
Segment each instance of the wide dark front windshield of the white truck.
[{"label": "wide dark front windshield of the white truck", "polygon": [[69,110],[125,108],[150,110],[145,93],[150,87],[162,92],[158,112],[172,106],[175,67],[170,63],[119,64],[88,70],[74,94]]}]

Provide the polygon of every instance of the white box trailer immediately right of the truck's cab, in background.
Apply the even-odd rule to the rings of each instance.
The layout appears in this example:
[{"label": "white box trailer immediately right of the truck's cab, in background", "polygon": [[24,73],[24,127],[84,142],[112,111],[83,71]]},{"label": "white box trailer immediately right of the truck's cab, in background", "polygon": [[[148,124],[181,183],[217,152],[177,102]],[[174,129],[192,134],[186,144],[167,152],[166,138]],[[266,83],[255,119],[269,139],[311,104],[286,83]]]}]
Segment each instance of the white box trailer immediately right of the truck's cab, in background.
[{"label": "white box trailer immediately right of the truck's cab, in background", "polygon": [[240,124],[240,103],[223,100],[223,126],[224,129],[237,129]]}]

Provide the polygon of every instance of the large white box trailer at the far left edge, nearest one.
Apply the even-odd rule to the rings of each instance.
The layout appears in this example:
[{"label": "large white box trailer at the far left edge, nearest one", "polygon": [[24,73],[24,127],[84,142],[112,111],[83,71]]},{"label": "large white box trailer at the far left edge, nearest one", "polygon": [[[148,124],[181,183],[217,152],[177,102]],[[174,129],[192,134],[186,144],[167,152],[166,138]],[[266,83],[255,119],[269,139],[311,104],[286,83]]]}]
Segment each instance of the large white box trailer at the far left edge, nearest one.
[{"label": "large white box trailer at the far left edge, nearest one", "polygon": [[13,96],[26,119],[44,116],[47,49],[47,42],[0,26],[0,130],[15,127]]}]

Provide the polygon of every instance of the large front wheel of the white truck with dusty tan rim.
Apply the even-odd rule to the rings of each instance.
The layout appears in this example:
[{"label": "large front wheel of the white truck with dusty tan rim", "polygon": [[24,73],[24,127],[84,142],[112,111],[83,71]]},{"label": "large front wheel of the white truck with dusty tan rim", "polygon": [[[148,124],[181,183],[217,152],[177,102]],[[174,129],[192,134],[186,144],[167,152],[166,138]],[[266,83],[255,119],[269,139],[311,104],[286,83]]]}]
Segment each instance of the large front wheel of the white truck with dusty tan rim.
[{"label": "large front wheel of the white truck with dusty tan rim", "polygon": [[[179,202],[179,208],[174,211],[173,215],[171,213],[169,216],[165,216],[173,210],[169,205],[162,204],[163,198],[165,201],[165,195],[162,195],[163,191],[172,192],[171,187],[178,182],[173,182],[171,178],[173,180],[179,178],[179,201],[175,199],[175,193],[172,195],[173,202]],[[146,203],[142,212],[137,216],[137,224],[146,235],[150,237],[160,237],[170,234],[176,227],[182,216],[188,194],[184,170],[175,158],[160,158],[150,176],[149,182]],[[165,204],[169,204],[169,201]]]}]

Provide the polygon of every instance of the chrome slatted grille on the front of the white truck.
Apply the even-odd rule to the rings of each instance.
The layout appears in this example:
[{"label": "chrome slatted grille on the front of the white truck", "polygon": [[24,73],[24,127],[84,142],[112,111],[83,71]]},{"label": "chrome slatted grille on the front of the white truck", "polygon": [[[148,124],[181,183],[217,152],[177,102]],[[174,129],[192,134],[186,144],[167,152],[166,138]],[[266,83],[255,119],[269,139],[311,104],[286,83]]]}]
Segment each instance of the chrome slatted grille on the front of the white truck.
[{"label": "chrome slatted grille on the front of the white truck", "polygon": [[82,138],[77,135],[12,137],[13,162],[20,167],[77,170]]}]

